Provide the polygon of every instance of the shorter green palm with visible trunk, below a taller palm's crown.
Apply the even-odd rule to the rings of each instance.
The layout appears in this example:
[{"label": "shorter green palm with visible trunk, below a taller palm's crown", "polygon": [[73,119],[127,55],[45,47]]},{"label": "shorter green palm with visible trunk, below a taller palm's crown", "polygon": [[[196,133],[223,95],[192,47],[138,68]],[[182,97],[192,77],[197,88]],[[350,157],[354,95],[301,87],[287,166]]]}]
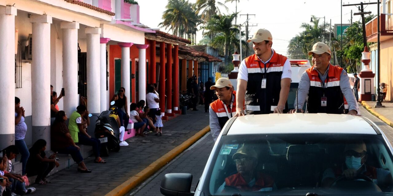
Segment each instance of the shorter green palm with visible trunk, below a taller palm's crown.
[{"label": "shorter green palm with visible trunk, below a taller palm's crown", "polygon": [[237,31],[235,25],[232,24],[233,19],[235,18],[235,14],[231,15],[215,15],[213,16],[206,26],[203,28],[206,30],[204,35],[217,35],[222,34],[225,37],[224,44],[224,62],[225,65],[228,65],[228,56],[229,56],[229,47],[230,47],[230,36],[233,31]]}]

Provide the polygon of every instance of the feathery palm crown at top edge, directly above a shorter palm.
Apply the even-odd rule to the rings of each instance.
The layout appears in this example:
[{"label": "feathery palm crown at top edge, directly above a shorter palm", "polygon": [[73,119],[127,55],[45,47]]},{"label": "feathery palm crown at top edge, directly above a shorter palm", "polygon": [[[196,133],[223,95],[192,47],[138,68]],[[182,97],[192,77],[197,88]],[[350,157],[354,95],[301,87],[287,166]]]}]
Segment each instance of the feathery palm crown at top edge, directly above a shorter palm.
[{"label": "feathery palm crown at top edge, directly above a shorter palm", "polygon": [[214,15],[220,15],[220,7],[224,7],[228,11],[228,7],[218,0],[196,0],[194,4],[196,13],[201,12],[201,18],[204,22],[208,22]]}]

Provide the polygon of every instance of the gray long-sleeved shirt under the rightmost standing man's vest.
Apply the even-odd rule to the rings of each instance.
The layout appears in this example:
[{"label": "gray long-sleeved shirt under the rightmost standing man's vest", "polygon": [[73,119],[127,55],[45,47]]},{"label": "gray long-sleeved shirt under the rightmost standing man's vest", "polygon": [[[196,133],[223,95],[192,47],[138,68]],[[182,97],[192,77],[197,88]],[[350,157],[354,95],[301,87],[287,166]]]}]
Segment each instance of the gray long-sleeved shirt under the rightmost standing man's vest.
[{"label": "gray long-sleeved shirt under the rightmost standing man's vest", "polygon": [[[327,73],[329,72],[329,67],[327,67],[327,70],[325,71],[325,74],[323,74],[323,75],[317,69],[315,69],[316,71],[318,71],[318,74],[319,74],[322,81],[326,80],[326,78],[328,76]],[[312,68],[312,69],[314,69],[314,68]],[[347,72],[344,69],[340,75],[340,89],[341,89],[342,93],[344,94],[345,100],[347,100],[347,103],[349,105],[349,110],[355,110],[357,112],[358,111],[358,104],[356,103],[356,99],[353,94],[353,90],[351,89],[351,84],[349,83],[349,78],[348,78]],[[295,109],[303,108],[304,102],[306,101],[307,95],[309,94],[309,90],[310,90],[310,78],[309,78],[309,75],[306,72],[304,72],[301,75],[301,79],[299,82],[299,87],[298,87],[299,103],[298,103],[298,107],[296,107],[296,99],[295,99],[295,103],[294,103]]]}]

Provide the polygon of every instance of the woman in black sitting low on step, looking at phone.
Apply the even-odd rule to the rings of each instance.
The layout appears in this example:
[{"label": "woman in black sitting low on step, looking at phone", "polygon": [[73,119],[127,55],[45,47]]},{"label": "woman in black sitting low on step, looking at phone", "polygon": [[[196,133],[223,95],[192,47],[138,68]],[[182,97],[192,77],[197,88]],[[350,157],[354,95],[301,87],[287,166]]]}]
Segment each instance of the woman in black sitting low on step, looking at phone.
[{"label": "woman in black sitting low on step, looking at phone", "polygon": [[[54,93],[54,92],[53,92]],[[56,154],[52,154],[49,158],[46,157],[46,141],[43,139],[37,140],[31,149],[29,149],[30,157],[27,162],[26,173],[29,177],[37,175],[35,183],[45,185],[51,181],[46,179],[49,172],[53,168],[59,167],[59,162],[55,160]]]}]

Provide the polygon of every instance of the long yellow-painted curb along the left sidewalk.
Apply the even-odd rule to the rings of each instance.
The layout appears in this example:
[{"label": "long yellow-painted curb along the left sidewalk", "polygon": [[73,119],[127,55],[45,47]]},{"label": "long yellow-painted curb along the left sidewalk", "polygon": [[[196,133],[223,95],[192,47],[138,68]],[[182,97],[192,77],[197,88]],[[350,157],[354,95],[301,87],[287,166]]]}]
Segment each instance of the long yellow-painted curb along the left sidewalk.
[{"label": "long yellow-painted curb along the left sidewalk", "polygon": [[116,187],[112,191],[105,194],[105,196],[123,196],[123,195],[127,194],[127,192],[131,191],[138,184],[140,184],[142,181],[149,178],[152,174],[154,174],[156,171],[161,169],[164,165],[169,163],[171,160],[173,160],[180,153],[185,151],[185,149],[187,149],[188,147],[193,145],[193,143],[198,141],[200,138],[202,138],[209,131],[210,131],[209,126],[200,130],[195,135],[193,135],[191,138],[185,140],[182,144],[176,146],[174,149],[169,151],[167,154],[164,154],[162,157],[158,158],[156,161],[151,163],[149,166],[147,166],[145,169],[140,171],[138,174],[135,174],[135,176],[131,176],[127,181],[123,182],[121,185],[119,185],[118,187]]}]

